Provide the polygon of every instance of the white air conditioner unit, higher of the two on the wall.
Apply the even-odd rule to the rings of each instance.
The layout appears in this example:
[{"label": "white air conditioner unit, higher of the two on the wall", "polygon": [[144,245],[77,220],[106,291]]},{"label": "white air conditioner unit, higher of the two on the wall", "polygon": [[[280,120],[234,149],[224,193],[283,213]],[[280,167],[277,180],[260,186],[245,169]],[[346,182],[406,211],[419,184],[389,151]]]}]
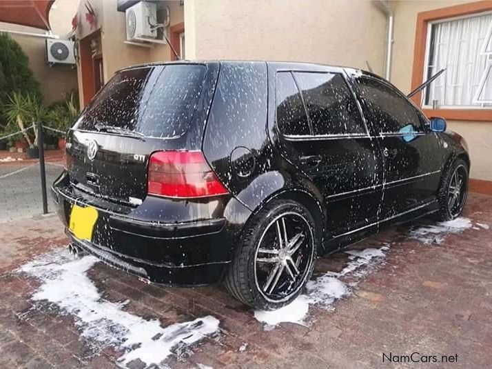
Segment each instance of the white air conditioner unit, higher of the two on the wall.
[{"label": "white air conditioner unit, higher of the two on the wall", "polygon": [[127,41],[146,41],[155,39],[157,31],[151,25],[157,24],[155,3],[140,1],[125,11]]}]

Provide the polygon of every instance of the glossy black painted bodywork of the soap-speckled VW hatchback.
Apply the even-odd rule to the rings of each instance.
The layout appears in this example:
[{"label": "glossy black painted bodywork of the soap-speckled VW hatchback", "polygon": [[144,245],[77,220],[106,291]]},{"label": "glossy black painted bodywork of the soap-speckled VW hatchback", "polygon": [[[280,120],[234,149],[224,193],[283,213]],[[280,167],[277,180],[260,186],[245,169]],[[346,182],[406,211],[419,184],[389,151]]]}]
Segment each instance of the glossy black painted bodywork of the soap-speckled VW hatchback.
[{"label": "glossy black painted bodywork of the soap-speckled VW hatchback", "polygon": [[[379,78],[373,74],[305,63],[202,64],[207,78],[186,134],[136,139],[74,128],[67,139],[68,171],[52,188],[65,227],[74,203],[99,210],[91,242],[68,231],[75,243],[150,281],[219,281],[245,225],[274,198],[304,203],[323,230],[324,251],[335,250],[377,232],[383,223],[433,212],[443,170],[458,156],[469,163],[462,138],[431,132],[418,108],[422,132],[411,141],[404,141],[404,134],[381,134],[379,118],[356,83],[361,75]],[[275,91],[276,73],[285,70],[342,74],[365,134],[283,136],[276,125]],[[87,157],[91,139],[99,145],[94,161]],[[146,195],[147,163],[157,150],[202,150],[230,195]]]}]

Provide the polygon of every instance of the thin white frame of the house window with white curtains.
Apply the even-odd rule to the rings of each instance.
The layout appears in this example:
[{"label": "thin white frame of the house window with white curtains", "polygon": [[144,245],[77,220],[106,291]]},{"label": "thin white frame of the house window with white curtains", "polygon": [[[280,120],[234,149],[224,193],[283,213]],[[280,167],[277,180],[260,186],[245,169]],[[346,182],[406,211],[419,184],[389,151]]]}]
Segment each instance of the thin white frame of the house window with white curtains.
[{"label": "thin white frame of the house window with white curtains", "polygon": [[[449,17],[449,18],[441,18],[441,19],[436,19],[434,21],[429,21],[427,22],[427,37],[425,40],[425,56],[424,56],[424,70],[422,74],[422,81],[420,83],[424,83],[424,81],[427,81],[427,79],[430,77],[429,76],[429,56],[431,53],[431,37],[432,37],[432,26],[439,24],[439,23],[445,23],[445,22],[450,22],[450,21],[460,21],[462,19],[467,19],[467,18],[473,18],[473,17],[480,17],[482,15],[492,15],[492,10],[486,10],[484,12],[477,12],[477,13],[471,13],[471,14],[465,14],[465,15],[458,15],[455,17]],[[492,24],[492,22],[491,22]],[[489,27],[490,28],[490,27]],[[480,47],[480,51],[482,52],[482,47]],[[485,70],[489,70],[490,66],[492,65],[492,57],[490,55],[487,55],[487,58],[489,61],[487,62],[489,65],[485,67]],[[481,81],[480,81],[481,82]],[[426,99],[426,92],[427,88],[424,88],[422,90],[422,109],[432,109],[431,104],[425,104],[425,99]],[[473,97],[472,102],[475,102],[475,97]],[[481,106],[478,105],[445,105],[443,106],[444,109],[460,109],[460,110],[474,110],[474,109],[479,109],[479,110],[492,110],[492,106],[484,106],[486,103],[481,103]]]}]

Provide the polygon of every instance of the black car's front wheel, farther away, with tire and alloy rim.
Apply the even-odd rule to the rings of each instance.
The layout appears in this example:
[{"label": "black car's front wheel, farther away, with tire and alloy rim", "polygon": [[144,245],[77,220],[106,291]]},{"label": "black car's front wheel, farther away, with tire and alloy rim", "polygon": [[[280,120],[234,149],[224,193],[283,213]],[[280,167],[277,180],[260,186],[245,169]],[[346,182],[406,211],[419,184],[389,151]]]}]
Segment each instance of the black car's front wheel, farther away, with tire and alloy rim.
[{"label": "black car's front wheel, farther away, with tire and alloy rim", "polygon": [[[450,221],[461,215],[464,203],[467,201],[468,177],[469,168],[462,159],[453,161],[444,172],[438,191],[439,210],[436,215],[438,220]],[[459,185],[459,193],[453,190],[456,185]]]}]

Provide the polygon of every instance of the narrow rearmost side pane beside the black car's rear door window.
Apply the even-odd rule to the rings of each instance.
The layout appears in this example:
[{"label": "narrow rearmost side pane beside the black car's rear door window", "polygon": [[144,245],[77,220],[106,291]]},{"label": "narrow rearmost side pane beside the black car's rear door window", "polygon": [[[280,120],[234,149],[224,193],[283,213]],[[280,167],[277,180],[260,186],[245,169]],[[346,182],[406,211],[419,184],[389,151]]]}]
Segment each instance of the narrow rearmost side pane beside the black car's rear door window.
[{"label": "narrow rearmost side pane beside the black car's rear door window", "polygon": [[277,126],[287,135],[311,134],[307,114],[291,72],[279,72],[276,79]]}]

